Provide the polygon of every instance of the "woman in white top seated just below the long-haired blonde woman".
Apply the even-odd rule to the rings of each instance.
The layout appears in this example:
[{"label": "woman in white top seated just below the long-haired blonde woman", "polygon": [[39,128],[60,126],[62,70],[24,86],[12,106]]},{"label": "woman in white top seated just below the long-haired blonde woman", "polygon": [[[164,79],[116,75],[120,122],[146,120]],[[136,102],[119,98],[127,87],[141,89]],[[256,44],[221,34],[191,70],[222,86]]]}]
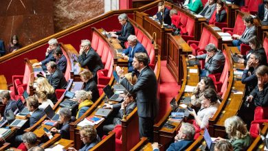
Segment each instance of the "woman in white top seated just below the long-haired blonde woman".
[{"label": "woman in white top seated just below the long-haired blonde woman", "polygon": [[54,104],[51,100],[47,99],[47,92],[45,91],[36,91],[35,97],[38,100],[38,103],[41,104],[38,108],[47,108],[47,106],[51,106],[53,108]]}]

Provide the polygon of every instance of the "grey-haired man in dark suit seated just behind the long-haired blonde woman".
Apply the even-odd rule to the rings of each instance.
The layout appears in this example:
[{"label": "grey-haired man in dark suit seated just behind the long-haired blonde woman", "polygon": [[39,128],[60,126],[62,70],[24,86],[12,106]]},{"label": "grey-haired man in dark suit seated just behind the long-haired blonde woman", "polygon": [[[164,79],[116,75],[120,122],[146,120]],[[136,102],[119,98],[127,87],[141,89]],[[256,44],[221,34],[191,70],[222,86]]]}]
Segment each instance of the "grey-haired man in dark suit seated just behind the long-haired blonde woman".
[{"label": "grey-haired man in dark suit seated just behind the long-haired blonde woman", "polygon": [[57,69],[57,65],[55,62],[51,61],[47,63],[47,71],[49,75],[47,76],[47,81],[51,84],[54,89],[66,89],[67,81],[63,73]]}]

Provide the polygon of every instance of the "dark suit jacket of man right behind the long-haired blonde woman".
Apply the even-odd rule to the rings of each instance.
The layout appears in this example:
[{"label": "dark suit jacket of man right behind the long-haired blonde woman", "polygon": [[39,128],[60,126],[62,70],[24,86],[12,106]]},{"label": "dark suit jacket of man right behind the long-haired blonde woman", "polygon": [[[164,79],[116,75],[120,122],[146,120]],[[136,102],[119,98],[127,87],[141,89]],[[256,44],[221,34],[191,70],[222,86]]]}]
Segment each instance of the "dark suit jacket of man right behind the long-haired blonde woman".
[{"label": "dark suit jacket of man right behind the long-haired blonde woman", "polygon": [[59,69],[56,69],[54,73],[50,74],[47,77],[47,80],[49,84],[51,84],[54,87],[55,90],[66,89],[68,84],[67,81],[65,80],[63,73]]}]

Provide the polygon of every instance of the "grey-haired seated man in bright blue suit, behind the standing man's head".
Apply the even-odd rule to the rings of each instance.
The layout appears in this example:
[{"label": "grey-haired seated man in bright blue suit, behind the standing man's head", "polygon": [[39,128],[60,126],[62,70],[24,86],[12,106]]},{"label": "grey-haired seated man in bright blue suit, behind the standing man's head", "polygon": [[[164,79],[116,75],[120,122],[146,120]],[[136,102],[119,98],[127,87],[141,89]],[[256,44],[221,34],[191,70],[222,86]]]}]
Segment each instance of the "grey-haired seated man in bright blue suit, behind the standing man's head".
[{"label": "grey-haired seated man in bright blue suit, behind the standing man's head", "polygon": [[134,54],[136,52],[145,52],[147,54],[147,51],[144,48],[144,46],[137,41],[137,37],[134,35],[129,36],[128,43],[129,43],[129,47],[123,51],[122,56],[124,57],[124,60],[129,61],[128,69],[129,69],[129,72],[132,72],[134,71],[133,66],[132,66]]}]

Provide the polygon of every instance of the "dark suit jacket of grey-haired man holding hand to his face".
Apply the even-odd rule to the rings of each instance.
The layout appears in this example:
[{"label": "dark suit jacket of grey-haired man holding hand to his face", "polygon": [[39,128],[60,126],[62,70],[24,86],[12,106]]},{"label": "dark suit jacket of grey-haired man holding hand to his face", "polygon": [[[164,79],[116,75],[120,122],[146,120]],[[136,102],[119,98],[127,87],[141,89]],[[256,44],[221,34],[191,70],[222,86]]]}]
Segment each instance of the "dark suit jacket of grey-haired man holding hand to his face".
[{"label": "dark suit jacket of grey-haired man holding hand to his face", "polygon": [[96,76],[98,70],[103,69],[102,59],[93,48],[90,48],[87,54],[85,52],[78,56],[78,61],[82,67],[87,66],[93,76]]}]

